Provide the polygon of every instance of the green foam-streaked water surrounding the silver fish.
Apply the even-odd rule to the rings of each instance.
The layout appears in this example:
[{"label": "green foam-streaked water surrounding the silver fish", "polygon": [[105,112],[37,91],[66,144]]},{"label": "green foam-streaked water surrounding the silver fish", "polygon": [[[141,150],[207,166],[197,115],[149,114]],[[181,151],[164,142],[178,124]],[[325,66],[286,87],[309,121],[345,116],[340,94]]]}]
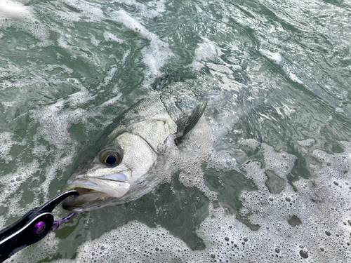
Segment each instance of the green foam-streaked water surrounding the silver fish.
[{"label": "green foam-streaked water surrounding the silver fish", "polygon": [[[55,196],[76,156],[166,72],[204,87],[207,124],[194,133],[206,127],[214,138],[197,139],[213,153],[204,163],[180,165],[171,182],[137,201],[76,215],[13,262],[350,261],[351,151],[342,143],[351,135],[350,16],[350,1],[0,0],[2,227]],[[298,142],[307,139],[314,141]],[[286,196],[296,203],[280,205]],[[237,241],[235,257],[221,250],[220,213],[237,238],[257,236],[249,247]],[[291,227],[293,215],[302,224]],[[82,256],[89,242],[104,243],[131,222],[149,227],[152,240],[168,231],[186,257],[169,245],[167,256],[138,252],[132,260],[124,241],[105,249],[104,260]],[[138,239],[127,247],[146,251]]]}]

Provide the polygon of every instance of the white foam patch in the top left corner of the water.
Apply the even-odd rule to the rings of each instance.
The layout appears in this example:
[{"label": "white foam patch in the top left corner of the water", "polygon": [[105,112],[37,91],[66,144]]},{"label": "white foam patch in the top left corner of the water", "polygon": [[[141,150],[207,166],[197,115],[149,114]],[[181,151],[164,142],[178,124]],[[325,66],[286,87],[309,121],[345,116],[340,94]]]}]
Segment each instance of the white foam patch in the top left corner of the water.
[{"label": "white foam patch in the top left corner of the water", "polygon": [[[18,31],[25,31],[32,34],[39,40],[34,46],[50,46],[53,45],[49,39],[51,32],[58,33],[58,42],[62,48],[69,49],[69,44],[65,39],[69,38],[71,34],[69,27],[74,27],[74,22],[84,20],[86,22],[100,22],[106,19],[100,4],[89,3],[88,1],[62,1],[65,6],[61,8],[51,8],[50,6],[42,6],[40,4],[33,4],[31,6],[24,6],[21,3],[11,0],[0,0],[0,26],[15,27]],[[58,5],[60,5],[58,3]],[[67,8],[70,6],[70,8]],[[46,17],[54,21],[60,22],[62,25],[57,25],[53,22],[43,22]],[[93,45],[98,44],[96,39],[92,37]],[[23,48],[23,47],[17,47]]]}]

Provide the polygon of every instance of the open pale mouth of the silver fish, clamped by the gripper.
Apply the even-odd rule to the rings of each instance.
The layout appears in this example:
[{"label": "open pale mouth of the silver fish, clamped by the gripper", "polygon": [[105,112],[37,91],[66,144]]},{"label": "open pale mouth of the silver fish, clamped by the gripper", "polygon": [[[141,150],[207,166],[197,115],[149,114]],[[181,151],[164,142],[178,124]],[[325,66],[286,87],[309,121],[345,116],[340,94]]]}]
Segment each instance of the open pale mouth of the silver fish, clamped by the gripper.
[{"label": "open pale mouth of the silver fish, clamped by the gripper", "polygon": [[[112,175],[102,175],[100,177],[89,177],[87,175],[77,175],[72,180],[68,180],[63,191],[74,189],[78,191],[78,196],[70,196],[63,203],[65,210],[81,211],[99,208],[106,199],[121,198],[130,189],[131,184],[124,173],[114,173]],[[130,173],[130,172],[129,172]]]}]

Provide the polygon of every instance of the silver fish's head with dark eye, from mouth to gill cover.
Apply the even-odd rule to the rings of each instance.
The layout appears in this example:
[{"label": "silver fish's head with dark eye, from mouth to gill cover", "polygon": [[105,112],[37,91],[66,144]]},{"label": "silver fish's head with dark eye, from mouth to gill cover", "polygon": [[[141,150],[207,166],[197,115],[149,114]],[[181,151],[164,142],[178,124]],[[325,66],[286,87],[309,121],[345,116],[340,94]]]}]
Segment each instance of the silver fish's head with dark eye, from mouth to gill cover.
[{"label": "silver fish's head with dark eye, from mouth to gill cover", "polygon": [[110,135],[107,142],[91,154],[90,159],[79,164],[63,188],[79,193],[65,200],[62,205],[66,210],[79,212],[124,203],[133,197],[135,189],[145,185],[142,182],[157,160],[150,144],[127,132],[116,137]]}]

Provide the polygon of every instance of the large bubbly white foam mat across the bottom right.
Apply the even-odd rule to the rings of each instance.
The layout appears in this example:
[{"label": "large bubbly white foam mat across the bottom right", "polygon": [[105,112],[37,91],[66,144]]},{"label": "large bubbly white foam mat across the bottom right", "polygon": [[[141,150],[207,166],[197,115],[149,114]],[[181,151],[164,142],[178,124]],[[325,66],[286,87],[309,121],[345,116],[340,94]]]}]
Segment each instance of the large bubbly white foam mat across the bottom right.
[{"label": "large bubbly white foam mat across the bottom right", "polygon": [[204,250],[190,250],[162,227],[128,222],[81,245],[73,261],[58,262],[347,262],[351,259],[347,181],[351,143],[342,144],[345,152],[340,154],[314,150],[314,158],[322,163],[314,166],[316,177],[286,183],[275,194],[266,185],[267,169],[286,178],[296,157],[262,145],[266,166],[256,161],[244,165],[258,189],[241,193],[239,210],[241,217],[258,224],[256,231],[222,205],[210,203],[209,215],[197,230]]}]

